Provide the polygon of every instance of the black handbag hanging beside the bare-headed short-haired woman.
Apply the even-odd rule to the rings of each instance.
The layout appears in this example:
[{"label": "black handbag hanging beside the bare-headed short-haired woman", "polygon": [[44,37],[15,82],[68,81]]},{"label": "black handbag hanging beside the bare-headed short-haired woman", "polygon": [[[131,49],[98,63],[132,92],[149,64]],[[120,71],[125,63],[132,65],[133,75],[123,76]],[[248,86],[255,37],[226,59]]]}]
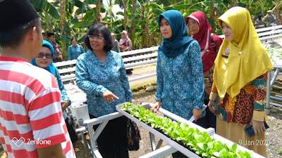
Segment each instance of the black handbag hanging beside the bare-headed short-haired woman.
[{"label": "black handbag hanging beside the bare-headed short-haired woman", "polygon": [[127,135],[128,135],[128,150],[139,150],[139,143],[141,140],[140,131],[134,121],[128,119],[127,121]]}]

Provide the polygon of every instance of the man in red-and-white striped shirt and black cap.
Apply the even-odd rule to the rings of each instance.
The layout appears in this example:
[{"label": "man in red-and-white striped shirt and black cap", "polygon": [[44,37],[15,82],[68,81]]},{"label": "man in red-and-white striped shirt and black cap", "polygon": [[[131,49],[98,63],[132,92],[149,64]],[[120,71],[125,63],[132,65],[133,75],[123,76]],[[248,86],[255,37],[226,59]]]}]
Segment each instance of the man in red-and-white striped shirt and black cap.
[{"label": "man in red-and-white striped shirt and black cap", "polygon": [[42,47],[29,0],[0,0],[0,140],[8,157],[75,157],[54,76],[29,62]]}]

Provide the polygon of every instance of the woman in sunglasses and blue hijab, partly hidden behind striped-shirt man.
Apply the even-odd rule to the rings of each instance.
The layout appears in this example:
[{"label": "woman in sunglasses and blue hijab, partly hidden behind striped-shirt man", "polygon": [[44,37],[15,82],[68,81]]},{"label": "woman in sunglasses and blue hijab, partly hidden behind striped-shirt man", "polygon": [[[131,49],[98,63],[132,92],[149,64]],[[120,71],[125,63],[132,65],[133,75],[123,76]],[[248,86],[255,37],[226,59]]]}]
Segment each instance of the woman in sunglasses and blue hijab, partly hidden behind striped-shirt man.
[{"label": "woman in sunglasses and blue hijab, partly hidden behind striped-shirt man", "polygon": [[43,41],[42,48],[40,49],[37,58],[32,59],[32,65],[37,67],[41,67],[44,70],[49,71],[54,75],[56,82],[61,91],[61,109],[63,112],[63,119],[66,121],[66,125],[68,128],[68,133],[71,136],[71,141],[75,143],[78,140],[78,136],[75,133],[75,129],[71,127],[71,124],[68,123],[68,117],[66,116],[66,107],[71,105],[71,100],[68,98],[68,94],[66,93],[66,88],[63,86],[63,81],[61,81],[61,76],[57,67],[53,65],[53,56],[54,49],[53,46],[49,43],[49,41]]}]

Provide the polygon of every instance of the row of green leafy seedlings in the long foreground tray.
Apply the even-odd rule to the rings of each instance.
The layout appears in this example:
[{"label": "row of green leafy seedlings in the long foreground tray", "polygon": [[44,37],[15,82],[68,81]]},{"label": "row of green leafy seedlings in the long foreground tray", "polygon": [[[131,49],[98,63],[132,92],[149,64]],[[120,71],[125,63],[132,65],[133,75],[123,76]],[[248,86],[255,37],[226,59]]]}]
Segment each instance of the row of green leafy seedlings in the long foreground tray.
[{"label": "row of green leafy seedlings in the long foreground tray", "polygon": [[251,157],[252,151],[242,152],[237,149],[236,143],[232,147],[228,144],[222,145],[221,141],[212,139],[207,132],[200,132],[199,129],[190,128],[188,124],[172,121],[168,117],[159,117],[156,113],[146,110],[145,107],[140,105],[135,106],[131,103],[125,103],[121,110],[130,113],[133,117],[164,133],[168,138],[183,145],[183,147],[200,157]]}]

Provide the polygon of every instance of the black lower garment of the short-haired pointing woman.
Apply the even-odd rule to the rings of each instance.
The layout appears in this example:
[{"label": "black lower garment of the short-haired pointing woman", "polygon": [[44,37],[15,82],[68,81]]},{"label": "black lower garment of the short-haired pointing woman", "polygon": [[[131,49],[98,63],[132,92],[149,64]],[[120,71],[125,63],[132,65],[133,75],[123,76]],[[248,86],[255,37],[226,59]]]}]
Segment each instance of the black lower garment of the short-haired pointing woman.
[{"label": "black lower garment of the short-haired pointing woman", "polygon": [[[92,114],[90,119],[97,118]],[[99,124],[94,125],[94,131]],[[128,158],[128,138],[126,133],[126,117],[112,119],[97,138],[97,145],[103,158]]]}]

